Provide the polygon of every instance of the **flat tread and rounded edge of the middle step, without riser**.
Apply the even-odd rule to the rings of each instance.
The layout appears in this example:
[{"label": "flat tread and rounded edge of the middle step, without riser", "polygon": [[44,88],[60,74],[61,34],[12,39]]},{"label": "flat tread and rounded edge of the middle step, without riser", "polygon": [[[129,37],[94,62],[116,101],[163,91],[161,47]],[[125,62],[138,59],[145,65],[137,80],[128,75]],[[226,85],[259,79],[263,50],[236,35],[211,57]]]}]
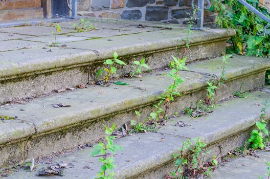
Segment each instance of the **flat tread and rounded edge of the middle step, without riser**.
[{"label": "flat tread and rounded edge of the middle step, without riser", "polygon": [[[229,59],[229,62],[226,69],[228,81],[270,68],[270,62],[263,58],[234,56]],[[178,91],[186,94],[206,87],[206,82],[214,78],[211,73],[214,76],[220,76],[221,64],[220,58],[188,64],[190,72],[180,73],[186,81]],[[169,73],[169,70],[144,74],[142,78],[120,79],[130,84],[129,86],[91,85],[85,89],[34,99],[26,104],[3,106],[0,108],[1,115],[17,116],[18,119],[0,123],[0,144],[89,119],[95,120],[97,117],[117,114],[134,107],[150,105],[158,100],[158,96],[172,82],[166,75],[161,75],[163,73]],[[71,107],[55,108],[53,106],[59,103],[69,104]]]}]

